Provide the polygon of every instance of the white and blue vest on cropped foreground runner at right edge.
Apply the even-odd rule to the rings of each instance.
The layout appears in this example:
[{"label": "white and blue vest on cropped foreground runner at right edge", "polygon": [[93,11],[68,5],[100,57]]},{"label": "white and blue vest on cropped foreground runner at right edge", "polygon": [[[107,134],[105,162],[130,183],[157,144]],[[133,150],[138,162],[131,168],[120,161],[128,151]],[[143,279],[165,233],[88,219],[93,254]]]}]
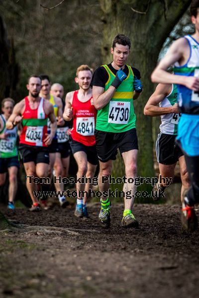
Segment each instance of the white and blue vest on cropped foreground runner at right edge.
[{"label": "white and blue vest on cropped foreground runner at right edge", "polygon": [[[180,66],[175,63],[174,73],[185,76],[199,76],[199,43],[191,36],[186,35],[190,46],[190,57],[187,63]],[[184,85],[178,85],[179,109],[185,114],[199,114],[199,92],[193,91]]]}]

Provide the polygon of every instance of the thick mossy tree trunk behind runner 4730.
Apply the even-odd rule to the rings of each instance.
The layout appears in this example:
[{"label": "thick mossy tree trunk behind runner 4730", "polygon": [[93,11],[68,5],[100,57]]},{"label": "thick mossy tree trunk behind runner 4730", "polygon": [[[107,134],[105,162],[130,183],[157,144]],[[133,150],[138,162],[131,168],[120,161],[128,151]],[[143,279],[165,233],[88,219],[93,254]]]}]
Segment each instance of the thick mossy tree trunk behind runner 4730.
[{"label": "thick mossy tree trunk behind runner 4730", "polygon": [[[143,114],[144,106],[154,91],[150,75],[165,39],[190,3],[191,0],[100,0],[104,13],[103,63],[112,61],[109,50],[112,40],[116,34],[123,33],[131,39],[128,64],[141,73],[143,92],[134,101],[139,144],[138,176],[141,177],[154,176],[152,118]],[[131,8],[146,13],[141,14]],[[124,175],[124,165],[120,159],[114,162],[113,173],[116,177],[121,173]],[[142,185],[139,190],[150,191],[151,185]]]}]

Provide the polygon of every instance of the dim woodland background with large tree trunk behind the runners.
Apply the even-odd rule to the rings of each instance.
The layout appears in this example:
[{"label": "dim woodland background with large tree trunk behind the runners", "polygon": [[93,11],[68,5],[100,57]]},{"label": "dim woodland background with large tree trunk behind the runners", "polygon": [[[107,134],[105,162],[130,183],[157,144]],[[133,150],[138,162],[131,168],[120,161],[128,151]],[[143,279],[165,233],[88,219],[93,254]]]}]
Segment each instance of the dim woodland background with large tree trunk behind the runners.
[{"label": "dim woodland background with large tree trunk behind the runners", "polygon": [[[111,62],[112,39],[117,33],[124,33],[132,41],[128,63],[140,70],[144,86],[143,94],[134,103],[140,147],[138,175],[157,175],[154,141],[160,117],[144,116],[143,107],[154,91],[150,74],[158,57],[166,53],[173,40],[193,32],[190,3],[190,0],[0,0],[0,100],[10,96],[18,102],[27,95],[30,74],[48,74],[52,83],[64,86],[65,94],[77,89],[74,81],[77,67],[88,64],[95,70]],[[119,177],[123,173],[118,156],[113,174]],[[151,190],[149,185],[142,187],[141,190]]]}]

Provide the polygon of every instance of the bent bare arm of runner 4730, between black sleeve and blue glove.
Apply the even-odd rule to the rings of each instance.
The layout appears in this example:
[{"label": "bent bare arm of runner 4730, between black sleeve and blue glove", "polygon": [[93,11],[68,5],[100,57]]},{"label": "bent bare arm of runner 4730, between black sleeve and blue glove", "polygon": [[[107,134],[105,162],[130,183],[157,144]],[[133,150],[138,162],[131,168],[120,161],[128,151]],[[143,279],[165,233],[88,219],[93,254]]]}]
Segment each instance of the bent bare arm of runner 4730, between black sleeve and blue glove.
[{"label": "bent bare arm of runner 4730, between black sleeve and blue glove", "polygon": [[110,86],[105,92],[103,87],[93,86],[94,106],[97,110],[101,110],[112,98],[116,88]]}]

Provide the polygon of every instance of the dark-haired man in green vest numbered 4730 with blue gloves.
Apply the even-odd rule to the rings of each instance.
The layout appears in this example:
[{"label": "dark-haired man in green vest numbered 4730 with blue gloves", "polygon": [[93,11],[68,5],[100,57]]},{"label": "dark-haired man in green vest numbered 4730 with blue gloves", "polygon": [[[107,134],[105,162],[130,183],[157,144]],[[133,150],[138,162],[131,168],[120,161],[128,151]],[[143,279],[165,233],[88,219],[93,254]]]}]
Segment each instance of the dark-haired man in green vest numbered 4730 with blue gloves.
[{"label": "dark-haired man in green vest numbered 4730 with blue gloves", "polygon": [[[94,105],[98,110],[96,123],[96,146],[100,160],[99,188],[108,191],[109,183],[104,176],[111,175],[112,160],[116,159],[117,149],[123,157],[126,178],[133,178],[137,172],[138,142],[135,128],[136,116],[133,99],[142,92],[138,70],[126,65],[131,41],[123,35],[115,36],[111,48],[112,63],[98,68],[92,79]],[[123,191],[131,198],[124,198],[122,226],[137,227],[138,222],[132,214],[135,186],[124,183]],[[101,197],[100,225],[109,227],[110,202],[105,195]]]}]

